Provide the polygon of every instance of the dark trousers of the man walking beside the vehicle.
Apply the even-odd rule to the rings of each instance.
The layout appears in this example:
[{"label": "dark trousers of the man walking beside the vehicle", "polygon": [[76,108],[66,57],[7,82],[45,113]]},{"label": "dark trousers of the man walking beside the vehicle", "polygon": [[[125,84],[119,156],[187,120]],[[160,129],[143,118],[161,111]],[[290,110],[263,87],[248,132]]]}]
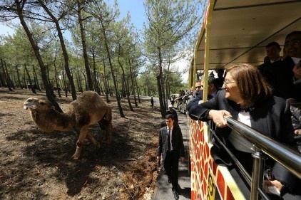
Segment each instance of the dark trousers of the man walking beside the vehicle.
[{"label": "dark trousers of the man walking beside the vehicle", "polygon": [[179,160],[173,156],[173,152],[167,152],[164,160],[164,169],[170,178],[173,190],[178,191],[178,168]]}]

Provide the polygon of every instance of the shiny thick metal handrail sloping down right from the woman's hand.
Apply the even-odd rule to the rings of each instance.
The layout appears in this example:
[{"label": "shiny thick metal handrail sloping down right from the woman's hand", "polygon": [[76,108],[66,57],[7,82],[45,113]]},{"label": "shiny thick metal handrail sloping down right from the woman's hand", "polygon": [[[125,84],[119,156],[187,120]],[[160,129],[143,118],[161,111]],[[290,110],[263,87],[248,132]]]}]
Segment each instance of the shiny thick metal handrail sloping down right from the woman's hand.
[{"label": "shiny thick metal handrail sloping down right from the woman's hand", "polygon": [[227,123],[230,128],[237,131],[241,136],[248,139],[255,147],[261,149],[268,156],[275,159],[281,164],[301,178],[301,154],[285,144],[275,141],[272,137],[262,135],[262,133],[253,130],[251,127],[238,122],[231,117],[227,118]]}]

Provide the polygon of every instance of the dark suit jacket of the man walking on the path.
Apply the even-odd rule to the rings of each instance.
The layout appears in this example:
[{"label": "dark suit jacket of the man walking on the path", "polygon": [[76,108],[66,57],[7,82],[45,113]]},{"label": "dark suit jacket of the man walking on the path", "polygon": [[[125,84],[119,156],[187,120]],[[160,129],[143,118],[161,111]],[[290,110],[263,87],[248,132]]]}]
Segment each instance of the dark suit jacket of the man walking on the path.
[{"label": "dark suit jacket of the man walking on the path", "polygon": [[[173,155],[175,159],[185,157],[183,135],[180,127],[173,125],[173,131],[171,136],[171,143],[173,145]],[[157,156],[160,157],[163,154],[163,160],[165,159],[166,152],[168,151],[168,127],[162,127],[159,130],[159,144],[157,149]]]}]

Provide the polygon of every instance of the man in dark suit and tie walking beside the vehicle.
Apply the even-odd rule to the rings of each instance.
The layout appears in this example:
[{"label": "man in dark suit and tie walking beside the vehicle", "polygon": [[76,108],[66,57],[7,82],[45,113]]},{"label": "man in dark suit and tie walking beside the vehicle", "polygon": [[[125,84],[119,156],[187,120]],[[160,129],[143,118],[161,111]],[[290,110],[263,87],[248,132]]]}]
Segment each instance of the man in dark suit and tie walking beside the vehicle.
[{"label": "man in dark suit and tie walking beside the vehicle", "polygon": [[159,130],[159,142],[157,149],[157,162],[163,155],[163,166],[168,175],[168,183],[173,185],[173,196],[179,199],[178,195],[178,167],[179,158],[181,162],[185,161],[183,135],[180,127],[174,126],[173,115],[165,117],[166,126]]}]

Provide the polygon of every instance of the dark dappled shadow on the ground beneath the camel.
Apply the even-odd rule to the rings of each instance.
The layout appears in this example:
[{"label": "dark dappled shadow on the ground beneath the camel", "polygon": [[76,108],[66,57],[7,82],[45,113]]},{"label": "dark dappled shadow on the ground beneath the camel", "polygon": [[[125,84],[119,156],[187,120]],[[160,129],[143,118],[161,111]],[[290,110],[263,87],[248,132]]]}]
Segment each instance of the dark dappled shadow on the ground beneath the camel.
[{"label": "dark dappled shadow on the ground beneath the camel", "polygon": [[[98,127],[94,127],[94,129],[98,129]],[[101,135],[92,134],[96,136],[96,140],[102,141]],[[71,160],[78,139],[78,133],[75,131],[44,133],[34,128],[9,135],[6,137],[9,142],[21,141],[26,142],[27,145],[17,160],[18,164],[12,164],[12,161],[9,160],[4,163],[4,166],[14,165],[10,174],[14,176],[14,183],[16,184],[8,190],[17,191],[30,184],[45,183],[46,179],[28,176],[41,171],[48,174],[46,177],[64,182],[68,188],[68,196],[75,196],[81,192],[86,184],[99,181],[101,174],[95,176],[96,172],[99,171],[98,169],[107,169],[108,172],[101,172],[103,174],[125,170],[123,162],[131,157],[133,152],[136,152],[135,146],[130,144],[131,140],[128,140],[129,136],[126,132],[113,132],[113,135],[113,142],[109,145],[101,142],[103,146],[100,149],[86,140],[81,158],[77,161]],[[9,152],[4,153],[10,154]],[[36,197],[42,195],[39,190],[35,192],[34,196]]]}]

